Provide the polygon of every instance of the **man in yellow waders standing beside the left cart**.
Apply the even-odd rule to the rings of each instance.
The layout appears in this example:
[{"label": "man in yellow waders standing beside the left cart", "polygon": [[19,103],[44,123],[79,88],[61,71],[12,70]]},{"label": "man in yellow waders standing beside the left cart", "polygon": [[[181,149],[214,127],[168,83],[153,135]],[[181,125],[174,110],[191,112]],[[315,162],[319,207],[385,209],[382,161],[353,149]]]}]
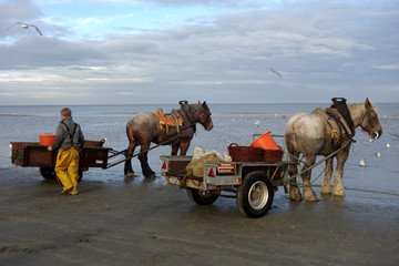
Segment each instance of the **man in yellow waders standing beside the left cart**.
[{"label": "man in yellow waders standing beside the left cart", "polygon": [[61,121],[57,127],[55,141],[49,151],[58,150],[55,173],[63,185],[61,194],[78,194],[79,151],[84,145],[84,136],[79,124],[72,121],[69,108],[61,110]]}]

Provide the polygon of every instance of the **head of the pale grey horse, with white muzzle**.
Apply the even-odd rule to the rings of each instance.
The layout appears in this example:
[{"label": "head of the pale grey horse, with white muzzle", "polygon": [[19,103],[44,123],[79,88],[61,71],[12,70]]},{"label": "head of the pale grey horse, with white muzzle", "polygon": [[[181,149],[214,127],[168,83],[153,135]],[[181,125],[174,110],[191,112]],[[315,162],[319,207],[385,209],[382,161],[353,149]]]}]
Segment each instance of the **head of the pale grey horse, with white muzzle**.
[{"label": "head of the pale grey horse, with white muzzle", "polygon": [[382,126],[378,120],[378,109],[368,99],[365,102],[365,113],[360,121],[360,126],[372,139],[378,139],[382,135]]}]

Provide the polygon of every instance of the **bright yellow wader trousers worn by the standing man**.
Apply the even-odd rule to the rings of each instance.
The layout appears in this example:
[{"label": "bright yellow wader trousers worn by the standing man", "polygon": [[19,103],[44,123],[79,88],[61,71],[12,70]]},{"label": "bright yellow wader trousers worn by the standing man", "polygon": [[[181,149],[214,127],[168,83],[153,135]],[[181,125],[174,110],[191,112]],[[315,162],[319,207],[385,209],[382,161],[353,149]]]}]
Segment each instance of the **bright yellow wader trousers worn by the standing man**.
[{"label": "bright yellow wader trousers worn by the standing man", "polygon": [[71,187],[73,190],[70,194],[78,194],[78,178],[79,178],[79,152],[71,147],[66,151],[59,150],[57,154],[55,173],[66,191]]}]

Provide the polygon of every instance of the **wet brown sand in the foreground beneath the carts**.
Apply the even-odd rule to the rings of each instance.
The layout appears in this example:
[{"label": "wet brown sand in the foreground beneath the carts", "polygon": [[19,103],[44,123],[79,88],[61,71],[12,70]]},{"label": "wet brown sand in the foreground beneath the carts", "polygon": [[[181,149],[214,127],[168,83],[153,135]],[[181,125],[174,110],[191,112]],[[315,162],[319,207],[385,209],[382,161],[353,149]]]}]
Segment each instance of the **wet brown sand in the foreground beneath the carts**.
[{"label": "wet brown sand in the foreground beneath the carts", "polygon": [[294,203],[279,190],[250,219],[235,200],[197,206],[163,177],[90,170],[63,196],[38,168],[0,175],[0,265],[399,265],[395,195]]}]

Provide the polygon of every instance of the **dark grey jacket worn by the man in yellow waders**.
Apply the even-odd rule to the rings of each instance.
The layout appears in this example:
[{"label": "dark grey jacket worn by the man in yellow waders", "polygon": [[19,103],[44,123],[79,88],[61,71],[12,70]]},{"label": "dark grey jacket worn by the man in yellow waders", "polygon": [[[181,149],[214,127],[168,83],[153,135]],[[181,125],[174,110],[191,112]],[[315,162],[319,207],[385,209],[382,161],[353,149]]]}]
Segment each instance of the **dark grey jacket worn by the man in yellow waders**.
[{"label": "dark grey jacket worn by the man in yellow waders", "polygon": [[[72,135],[72,141],[71,141]],[[53,150],[66,151],[73,145],[78,151],[84,145],[84,136],[79,124],[71,116],[62,119],[57,127],[55,141],[51,145]]]}]

